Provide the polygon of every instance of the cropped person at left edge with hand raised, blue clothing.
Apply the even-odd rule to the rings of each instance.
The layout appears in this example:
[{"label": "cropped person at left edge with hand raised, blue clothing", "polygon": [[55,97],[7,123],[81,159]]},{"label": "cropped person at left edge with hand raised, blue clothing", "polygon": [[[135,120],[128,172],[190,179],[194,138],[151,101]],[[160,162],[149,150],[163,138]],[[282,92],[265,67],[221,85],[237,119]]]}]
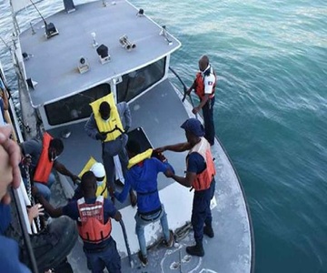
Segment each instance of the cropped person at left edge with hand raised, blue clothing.
[{"label": "cropped person at left edge with hand raised, blue clothing", "polygon": [[18,145],[9,138],[11,126],[0,126],[0,265],[1,272],[30,273],[31,271],[19,260],[18,245],[12,238],[4,236],[5,229],[11,221],[10,187],[19,187],[20,150]]}]

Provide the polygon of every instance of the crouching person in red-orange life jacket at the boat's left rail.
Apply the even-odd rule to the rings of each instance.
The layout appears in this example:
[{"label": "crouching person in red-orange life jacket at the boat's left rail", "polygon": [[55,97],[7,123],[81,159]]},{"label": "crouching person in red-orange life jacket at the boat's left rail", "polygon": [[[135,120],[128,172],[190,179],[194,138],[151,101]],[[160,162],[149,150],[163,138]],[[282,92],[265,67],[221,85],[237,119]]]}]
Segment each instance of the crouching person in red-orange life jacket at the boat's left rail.
[{"label": "crouching person in red-orange life jacket at the boat's left rail", "polygon": [[[64,151],[64,143],[60,138],[53,138],[45,132],[42,141],[27,140],[21,143],[20,147],[23,156],[21,170],[25,186],[27,187],[28,177],[31,177],[30,182],[34,182],[35,187],[46,200],[50,200],[50,187],[55,181],[53,168],[62,175],[71,177],[74,183],[79,179],[57,160]],[[26,169],[29,170],[28,173]]]}]

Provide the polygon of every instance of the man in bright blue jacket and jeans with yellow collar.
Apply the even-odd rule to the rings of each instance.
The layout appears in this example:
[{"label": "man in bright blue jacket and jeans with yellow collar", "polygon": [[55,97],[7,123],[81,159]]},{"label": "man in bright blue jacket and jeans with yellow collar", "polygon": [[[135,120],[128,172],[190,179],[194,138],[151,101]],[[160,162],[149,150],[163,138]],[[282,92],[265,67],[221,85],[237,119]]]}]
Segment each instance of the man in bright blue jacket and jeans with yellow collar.
[{"label": "man in bright blue jacket and jeans with yellow collar", "polygon": [[148,149],[141,153],[140,145],[130,140],[127,143],[127,153],[130,158],[128,171],[124,179],[124,188],[121,193],[114,192],[120,202],[124,202],[127,193],[132,187],[137,193],[137,213],[136,235],[139,241],[140,249],[138,256],[142,265],[145,267],[148,263],[146,255],[146,242],[144,238],[144,227],[152,222],[160,220],[163,227],[163,237],[165,246],[173,246],[173,231],[169,230],[167,215],[164,211],[163,204],[160,201],[158,193],[158,173],[168,173],[171,169],[168,164],[164,164],[155,157],[151,157],[153,149]]}]

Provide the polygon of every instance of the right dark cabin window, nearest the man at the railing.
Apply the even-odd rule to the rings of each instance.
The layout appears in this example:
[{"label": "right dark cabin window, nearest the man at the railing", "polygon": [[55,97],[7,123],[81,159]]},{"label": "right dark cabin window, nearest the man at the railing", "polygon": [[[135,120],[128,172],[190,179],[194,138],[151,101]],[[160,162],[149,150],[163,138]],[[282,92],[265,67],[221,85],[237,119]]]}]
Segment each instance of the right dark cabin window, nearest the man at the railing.
[{"label": "right dark cabin window, nearest the man at the railing", "polygon": [[164,76],[164,69],[165,57],[149,66],[125,74],[123,81],[116,86],[118,102],[130,101],[161,80]]}]

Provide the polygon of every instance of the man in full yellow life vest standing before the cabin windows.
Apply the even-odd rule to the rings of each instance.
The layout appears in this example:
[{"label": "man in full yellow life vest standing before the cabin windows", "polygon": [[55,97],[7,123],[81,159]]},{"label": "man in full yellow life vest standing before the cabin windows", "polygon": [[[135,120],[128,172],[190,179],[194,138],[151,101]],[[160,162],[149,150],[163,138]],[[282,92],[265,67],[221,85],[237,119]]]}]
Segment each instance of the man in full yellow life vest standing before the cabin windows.
[{"label": "man in full yellow life vest standing before the cabin windows", "polygon": [[[93,114],[84,128],[88,136],[101,141],[107,183],[108,186],[114,188],[114,156],[118,155],[123,174],[127,170],[128,157],[125,149],[127,135],[124,133],[129,130],[132,123],[131,111],[126,102],[115,106],[112,93],[99,98],[90,105]],[[130,191],[130,198],[132,206],[135,206],[136,197],[133,190]]]}]

